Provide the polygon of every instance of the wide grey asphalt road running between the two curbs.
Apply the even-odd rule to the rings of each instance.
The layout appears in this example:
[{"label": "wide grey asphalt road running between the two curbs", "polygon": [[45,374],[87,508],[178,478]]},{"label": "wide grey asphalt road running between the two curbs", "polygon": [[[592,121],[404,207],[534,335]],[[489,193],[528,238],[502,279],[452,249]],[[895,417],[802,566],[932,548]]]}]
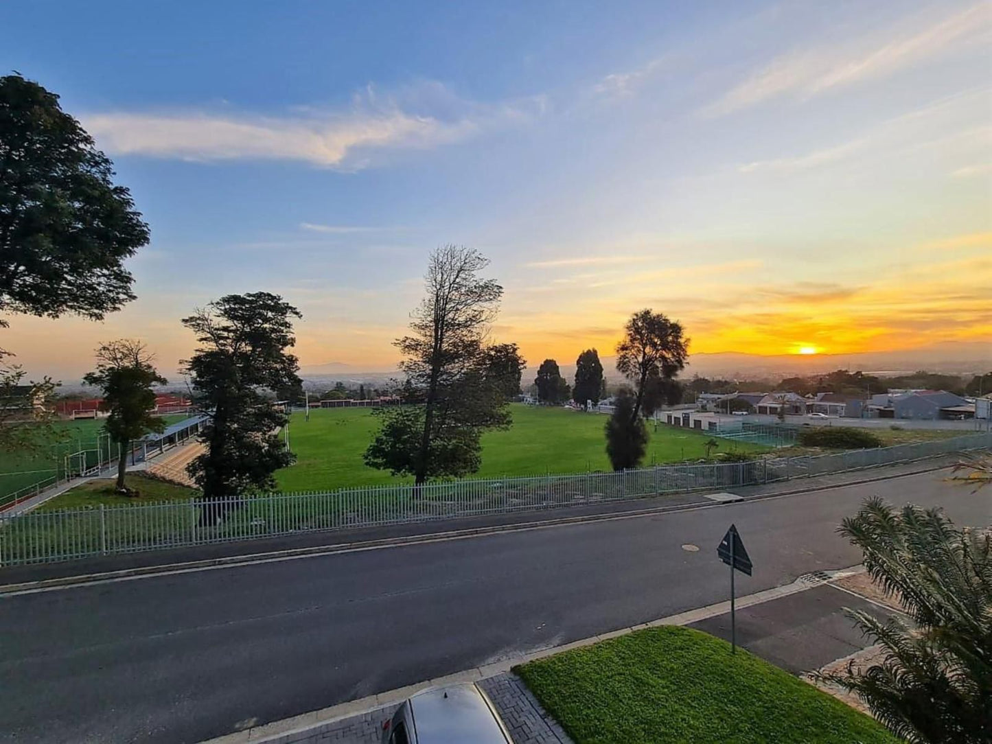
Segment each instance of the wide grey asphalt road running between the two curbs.
[{"label": "wide grey asphalt road running between the two curbs", "polygon": [[741,595],[857,563],[834,528],[872,494],[992,523],[943,475],[0,597],[0,739],[193,742],[710,604],[731,522]]}]

